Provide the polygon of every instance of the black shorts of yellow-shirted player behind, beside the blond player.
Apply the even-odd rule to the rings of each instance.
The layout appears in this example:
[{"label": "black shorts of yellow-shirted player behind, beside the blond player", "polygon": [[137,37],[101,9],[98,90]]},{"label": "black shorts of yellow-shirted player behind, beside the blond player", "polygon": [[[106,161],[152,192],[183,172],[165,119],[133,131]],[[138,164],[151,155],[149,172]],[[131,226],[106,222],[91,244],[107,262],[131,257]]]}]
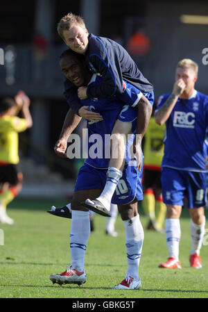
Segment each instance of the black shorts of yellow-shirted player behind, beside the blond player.
[{"label": "black shorts of yellow-shirted player behind, beside the blond player", "polygon": [[144,168],[143,187],[162,190],[161,171]]}]

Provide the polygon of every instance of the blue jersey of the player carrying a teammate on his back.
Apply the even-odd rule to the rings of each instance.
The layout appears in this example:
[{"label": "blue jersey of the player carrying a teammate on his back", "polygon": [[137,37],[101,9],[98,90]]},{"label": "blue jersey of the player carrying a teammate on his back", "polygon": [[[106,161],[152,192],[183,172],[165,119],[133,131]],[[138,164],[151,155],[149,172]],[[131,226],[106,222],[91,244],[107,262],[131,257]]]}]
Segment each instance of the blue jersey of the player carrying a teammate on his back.
[{"label": "blue jersey of the player carrying a teammate on his back", "polygon": [[[101,79],[101,76],[93,75],[90,84],[99,84]],[[116,96],[108,99],[88,98],[81,102],[83,106],[89,106],[89,110],[100,113],[103,117],[103,120],[99,122],[87,120],[88,144],[86,163],[96,168],[106,169],[110,162],[110,136],[124,104]],[[135,108],[137,117],[136,112],[137,109]],[[132,161],[129,145],[132,145],[133,138],[134,135],[131,136],[127,145],[127,163]]]}]

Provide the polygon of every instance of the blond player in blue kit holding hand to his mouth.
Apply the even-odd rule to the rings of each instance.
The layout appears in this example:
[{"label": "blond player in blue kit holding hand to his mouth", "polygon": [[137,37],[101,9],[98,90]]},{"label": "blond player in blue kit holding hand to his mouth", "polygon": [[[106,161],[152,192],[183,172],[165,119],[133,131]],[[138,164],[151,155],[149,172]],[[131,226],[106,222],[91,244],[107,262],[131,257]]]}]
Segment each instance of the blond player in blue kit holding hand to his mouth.
[{"label": "blond player in blue kit holding hand to his mouth", "polygon": [[198,65],[190,59],[177,64],[173,92],[162,95],[155,110],[157,124],[166,124],[162,160],[162,197],[167,206],[168,261],[159,268],[181,268],[180,214],[184,197],[191,216],[192,268],[202,268],[200,248],[205,233],[208,97],[195,89]]}]

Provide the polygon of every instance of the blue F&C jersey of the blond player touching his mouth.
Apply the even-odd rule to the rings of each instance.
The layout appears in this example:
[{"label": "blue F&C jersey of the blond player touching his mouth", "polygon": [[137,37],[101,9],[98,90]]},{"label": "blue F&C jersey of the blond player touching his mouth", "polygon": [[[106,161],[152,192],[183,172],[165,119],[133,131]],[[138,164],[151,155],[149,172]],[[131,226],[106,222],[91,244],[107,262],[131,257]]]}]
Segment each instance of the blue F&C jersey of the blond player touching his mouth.
[{"label": "blue F&C jersey of the blond player touching his mouth", "polygon": [[[159,97],[157,111],[171,94]],[[162,167],[207,172],[208,96],[196,90],[189,99],[177,99],[166,120]]]}]

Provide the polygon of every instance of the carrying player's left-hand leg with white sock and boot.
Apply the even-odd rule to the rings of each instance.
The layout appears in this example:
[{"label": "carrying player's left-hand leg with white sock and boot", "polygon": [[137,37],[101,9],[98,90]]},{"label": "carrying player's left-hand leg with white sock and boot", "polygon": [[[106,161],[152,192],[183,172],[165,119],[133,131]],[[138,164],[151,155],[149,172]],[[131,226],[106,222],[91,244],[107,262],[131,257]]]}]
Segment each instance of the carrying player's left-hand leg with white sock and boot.
[{"label": "carrying player's left-hand leg with white sock and boot", "polygon": [[68,265],[67,270],[61,274],[50,275],[53,283],[81,285],[87,280],[85,252],[90,234],[90,222],[89,211],[80,202],[84,202],[89,196],[97,197],[100,193],[101,190],[99,189],[77,190],[74,192],[71,202],[71,263]]}]

